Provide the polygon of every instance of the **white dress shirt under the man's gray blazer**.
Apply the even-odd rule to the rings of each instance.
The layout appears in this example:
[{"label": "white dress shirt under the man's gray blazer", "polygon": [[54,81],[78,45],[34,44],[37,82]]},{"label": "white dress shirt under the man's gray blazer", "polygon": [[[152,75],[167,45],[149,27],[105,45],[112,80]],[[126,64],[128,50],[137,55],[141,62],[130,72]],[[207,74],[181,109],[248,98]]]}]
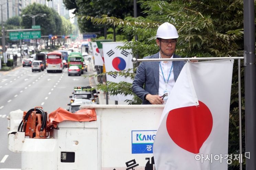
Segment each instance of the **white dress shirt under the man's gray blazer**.
[{"label": "white dress shirt under the man's gray blazer", "polygon": [[[159,53],[159,58],[161,58],[160,53]],[[173,58],[173,54],[172,54],[171,58]],[[168,76],[170,74],[170,69],[171,69],[172,61],[168,61],[167,63],[164,63],[164,61],[160,61],[160,63],[161,63],[161,66],[162,66],[162,69],[163,69],[163,73],[164,73],[164,76],[165,76],[165,81],[164,81],[164,77],[163,77],[163,73],[162,73],[161,67],[159,65],[159,89],[158,89],[158,95],[159,96],[163,96],[164,95],[164,91],[168,90],[169,92],[171,92],[172,87],[175,84],[175,81],[174,81],[173,66],[172,66],[171,75],[170,75],[169,81],[167,83]],[[167,83],[167,89],[166,89],[165,82]],[[167,98],[168,97],[164,98],[165,102],[166,102]]]}]

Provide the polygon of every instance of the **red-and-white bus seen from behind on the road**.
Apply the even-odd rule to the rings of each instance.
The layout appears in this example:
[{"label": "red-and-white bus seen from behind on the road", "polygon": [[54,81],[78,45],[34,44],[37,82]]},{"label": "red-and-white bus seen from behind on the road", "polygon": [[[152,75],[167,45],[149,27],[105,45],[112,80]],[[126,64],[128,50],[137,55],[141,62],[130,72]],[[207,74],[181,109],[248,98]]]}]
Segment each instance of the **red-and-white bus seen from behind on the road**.
[{"label": "red-and-white bus seen from behind on the road", "polygon": [[59,71],[62,73],[63,63],[62,63],[62,53],[58,51],[49,52],[47,54],[47,73],[50,71]]}]

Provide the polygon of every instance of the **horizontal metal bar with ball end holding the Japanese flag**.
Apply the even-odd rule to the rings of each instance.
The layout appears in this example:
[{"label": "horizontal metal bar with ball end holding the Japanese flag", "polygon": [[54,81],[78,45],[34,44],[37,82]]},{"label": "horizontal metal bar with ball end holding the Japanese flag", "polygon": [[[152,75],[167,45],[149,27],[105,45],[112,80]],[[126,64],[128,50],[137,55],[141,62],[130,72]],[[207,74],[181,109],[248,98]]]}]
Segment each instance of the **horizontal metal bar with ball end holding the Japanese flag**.
[{"label": "horizontal metal bar with ball end holding the Japanese flag", "polygon": [[162,59],[136,59],[132,58],[132,62],[142,62],[142,61],[190,61],[190,60],[225,60],[225,59],[244,59],[244,57],[200,57],[200,58],[162,58]]}]

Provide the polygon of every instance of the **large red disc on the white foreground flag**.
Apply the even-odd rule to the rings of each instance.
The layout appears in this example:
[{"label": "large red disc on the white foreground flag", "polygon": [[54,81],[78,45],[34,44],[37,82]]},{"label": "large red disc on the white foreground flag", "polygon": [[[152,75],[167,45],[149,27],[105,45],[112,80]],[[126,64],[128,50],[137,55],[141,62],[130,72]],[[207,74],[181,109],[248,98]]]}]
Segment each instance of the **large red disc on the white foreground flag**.
[{"label": "large red disc on the white foreground flag", "polygon": [[172,141],[179,147],[198,154],[212,131],[213,119],[209,108],[201,101],[199,106],[189,106],[169,111],[166,128]]}]

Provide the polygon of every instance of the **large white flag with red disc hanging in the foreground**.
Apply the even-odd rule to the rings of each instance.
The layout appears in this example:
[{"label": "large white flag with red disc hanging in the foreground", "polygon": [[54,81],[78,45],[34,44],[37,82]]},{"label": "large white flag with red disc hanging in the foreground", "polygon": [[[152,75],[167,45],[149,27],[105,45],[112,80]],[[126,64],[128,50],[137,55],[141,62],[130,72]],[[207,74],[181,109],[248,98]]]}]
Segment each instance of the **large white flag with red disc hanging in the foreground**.
[{"label": "large white flag with red disc hanging in the foreground", "polygon": [[156,133],[157,170],[227,170],[233,62],[184,65]]}]

